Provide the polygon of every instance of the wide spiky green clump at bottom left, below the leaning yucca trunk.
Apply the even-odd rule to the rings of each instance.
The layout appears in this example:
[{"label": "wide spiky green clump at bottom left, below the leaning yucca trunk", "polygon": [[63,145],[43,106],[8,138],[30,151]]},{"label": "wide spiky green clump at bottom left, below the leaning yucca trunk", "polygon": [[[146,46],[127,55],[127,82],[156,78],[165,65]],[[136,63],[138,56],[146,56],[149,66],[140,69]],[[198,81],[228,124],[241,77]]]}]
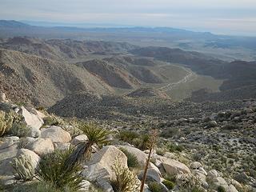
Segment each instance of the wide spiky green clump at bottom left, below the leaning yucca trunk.
[{"label": "wide spiky green clump at bottom left, below the leaning yucca trunk", "polygon": [[72,149],[46,154],[39,162],[38,179],[48,183],[58,190],[79,190],[81,188],[82,167],[76,163],[74,166],[67,167],[66,159],[70,157]]}]

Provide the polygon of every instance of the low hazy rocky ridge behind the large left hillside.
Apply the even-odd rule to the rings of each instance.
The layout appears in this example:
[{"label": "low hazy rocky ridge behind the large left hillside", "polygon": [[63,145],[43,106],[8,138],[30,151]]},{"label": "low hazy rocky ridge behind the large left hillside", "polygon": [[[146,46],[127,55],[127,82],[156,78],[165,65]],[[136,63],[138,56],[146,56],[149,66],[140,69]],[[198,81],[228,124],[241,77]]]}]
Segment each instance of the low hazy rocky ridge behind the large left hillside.
[{"label": "low hazy rocky ridge behind the large left hillside", "polygon": [[18,50],[26,54],[35,54],[42,58],[54,60],[69,60],[84,58],[88,54],[124,53],[134,49],[125,42],[89,42],[70,39],[49,39],[14,37],[7,38],[0,43],[0,48]]}]

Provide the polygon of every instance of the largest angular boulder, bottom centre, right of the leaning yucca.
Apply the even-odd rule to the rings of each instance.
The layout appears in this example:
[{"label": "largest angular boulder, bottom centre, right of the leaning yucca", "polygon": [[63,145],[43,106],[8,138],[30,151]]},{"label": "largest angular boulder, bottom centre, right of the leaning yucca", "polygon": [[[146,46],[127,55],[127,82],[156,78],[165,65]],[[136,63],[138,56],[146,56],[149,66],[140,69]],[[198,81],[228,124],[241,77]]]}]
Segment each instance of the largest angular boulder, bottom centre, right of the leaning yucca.
[{"label": "largest angular boulder, bottom centre, right of the leaning yucca", "polygon": [[95,181],[104,191],[113,191],[110,180],[115,179],[113,170],[116,159],[119,158],[122,165],[128,168],[126,155],[115,146],[105,146],[95,153],[82,174],[90,181]]}]

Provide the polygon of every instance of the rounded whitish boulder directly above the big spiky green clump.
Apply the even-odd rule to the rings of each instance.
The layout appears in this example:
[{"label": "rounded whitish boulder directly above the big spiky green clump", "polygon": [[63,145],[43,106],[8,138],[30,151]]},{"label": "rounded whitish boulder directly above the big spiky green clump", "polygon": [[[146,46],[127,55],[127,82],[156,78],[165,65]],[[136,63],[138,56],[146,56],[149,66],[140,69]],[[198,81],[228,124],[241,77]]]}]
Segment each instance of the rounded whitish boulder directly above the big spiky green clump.
[{"label": "rounded whitish boulder directly above the big spiky green clump", "polygon": [[54,151],[54,144],[50,138],[38,138],[30,144],[28,149],[38,155],[49,154]]}]

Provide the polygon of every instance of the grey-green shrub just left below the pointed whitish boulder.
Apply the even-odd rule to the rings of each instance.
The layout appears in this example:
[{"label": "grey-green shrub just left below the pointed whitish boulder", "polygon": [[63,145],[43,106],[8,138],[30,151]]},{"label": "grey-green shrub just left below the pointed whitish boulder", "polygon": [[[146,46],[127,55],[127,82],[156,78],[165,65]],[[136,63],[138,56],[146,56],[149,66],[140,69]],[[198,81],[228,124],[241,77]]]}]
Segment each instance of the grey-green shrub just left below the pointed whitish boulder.
[{"label": "grey-green shrub just left below the pointed whitish boulder", "polygon": [[8,134],[18,136],[20,138],[26,137],[30,134],[30,127],[26,126],[26,122],[14,122]]}]

